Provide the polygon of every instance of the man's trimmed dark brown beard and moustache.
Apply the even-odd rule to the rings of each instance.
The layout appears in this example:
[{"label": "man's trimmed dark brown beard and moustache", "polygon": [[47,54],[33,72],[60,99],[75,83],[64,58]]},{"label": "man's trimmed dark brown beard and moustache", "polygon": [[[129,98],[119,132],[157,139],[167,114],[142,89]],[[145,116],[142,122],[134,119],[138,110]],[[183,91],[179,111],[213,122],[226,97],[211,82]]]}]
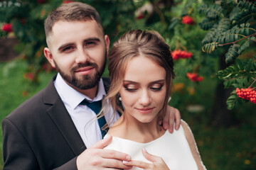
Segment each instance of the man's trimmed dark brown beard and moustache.
[{"label": "man's trimmed dark brown beard and moustache", "polygon": [[[107,55],[107,52],[106,52]],[[65,74],[59,67],[58,64],[53,60],[53,62],[55,63],[55,69],[57,72],[60,73],[61,77],[63,77],[63,79],[68,82],[68,84],[71,84],[72,86],[75,86],[76,88],[80,89],[80,90],[87,90],[87,89],[92,89],[94,88],[100,81],[100,78],[102,77],[102,74],[105,70],[105,65],[107,62],[106,59],[106,55],[105,55],[105,61],[102,65],[102,67],[99,68],[99,66],[96,63],[92,63],[92,62],[87,62],[85,64],[78,64],[78,66],[73,67],[70,70],[70,75]],[[82,67],[94,67],[94,69],[96,70],[96,73],[93,75],[82,75],[82,77],[80,79],[77,79],[75,77],[75,71],[82,68]]]}]

